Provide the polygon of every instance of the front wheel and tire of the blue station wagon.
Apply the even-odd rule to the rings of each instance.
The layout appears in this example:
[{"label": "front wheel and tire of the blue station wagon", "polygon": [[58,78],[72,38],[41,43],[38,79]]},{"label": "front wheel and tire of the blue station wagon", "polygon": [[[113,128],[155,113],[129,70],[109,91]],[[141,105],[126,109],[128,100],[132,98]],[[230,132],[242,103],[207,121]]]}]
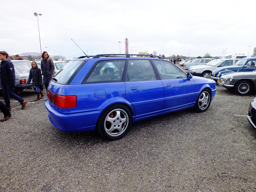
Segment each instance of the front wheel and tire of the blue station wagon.
[{"label": "front wheel and tire of the blue station wagon", "polygon": [[197,112],[206,111],[211,104],[212,94],[209,89],[204,89],[196,100],[195,110]]}]

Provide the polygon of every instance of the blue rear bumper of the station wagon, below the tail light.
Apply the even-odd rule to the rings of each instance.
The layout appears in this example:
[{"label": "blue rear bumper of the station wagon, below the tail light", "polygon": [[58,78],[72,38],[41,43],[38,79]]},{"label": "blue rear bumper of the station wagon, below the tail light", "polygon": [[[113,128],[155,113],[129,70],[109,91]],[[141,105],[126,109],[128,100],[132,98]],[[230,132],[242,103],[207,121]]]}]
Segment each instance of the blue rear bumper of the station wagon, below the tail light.
[{"label": "blue rear bumper of the station wagon, below the tail light", "polygon": [[51,107],[48,99],[45,100],[45,108],[48,110],[50,122],[58,129],[65,132],[94,131],[102,110],[63,114]]}]

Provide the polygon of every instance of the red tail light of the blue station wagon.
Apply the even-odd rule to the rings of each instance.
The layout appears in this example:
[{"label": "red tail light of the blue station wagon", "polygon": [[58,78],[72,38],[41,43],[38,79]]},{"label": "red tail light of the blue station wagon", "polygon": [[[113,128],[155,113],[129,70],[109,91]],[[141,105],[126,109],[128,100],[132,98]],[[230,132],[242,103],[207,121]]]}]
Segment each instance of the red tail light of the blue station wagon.
[{"label": "red tail light of the blue station wagon", "polygon": [[57,95],[51,91],[47,91],[48,100],[60,108],[75,108],[76,107],[76,95]]}]

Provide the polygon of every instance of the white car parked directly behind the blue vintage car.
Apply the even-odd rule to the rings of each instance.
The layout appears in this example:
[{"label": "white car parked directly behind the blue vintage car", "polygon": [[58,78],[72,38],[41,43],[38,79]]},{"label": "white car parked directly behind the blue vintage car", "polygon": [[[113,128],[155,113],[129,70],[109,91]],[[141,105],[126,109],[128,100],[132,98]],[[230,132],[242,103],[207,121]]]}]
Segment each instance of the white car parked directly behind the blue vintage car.
[{"label": "white car parked directly behind the blue vintage car", "polygon": [[239,59],[217,59],[205,65],[192,66],[188,69],[188,72],[193,76],[201,76],[209,79],[213,70],[219,67],[235,65]]}]

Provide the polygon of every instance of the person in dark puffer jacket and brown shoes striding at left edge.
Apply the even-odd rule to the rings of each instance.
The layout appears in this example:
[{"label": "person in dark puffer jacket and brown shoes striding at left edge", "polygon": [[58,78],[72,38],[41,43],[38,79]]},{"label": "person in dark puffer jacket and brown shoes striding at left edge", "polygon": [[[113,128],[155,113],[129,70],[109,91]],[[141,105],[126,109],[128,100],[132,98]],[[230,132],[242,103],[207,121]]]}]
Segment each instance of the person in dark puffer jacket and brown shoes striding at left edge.
[{"label": "person in dark puffer jacket and brown shoes striding at left edge", "polygon": [[14,86],[15,86],[15,71],[12,62],[8,59],[8,53],[6,51],[0,51],[0,60],[1,68],[0,68],[0,81],[3,88],[3,96],[5,106],[11,110],[11,101],[10,97],[19,101],[21,104],[21,109],[26,107],[27,101],[18,95],[14,94]]}]

